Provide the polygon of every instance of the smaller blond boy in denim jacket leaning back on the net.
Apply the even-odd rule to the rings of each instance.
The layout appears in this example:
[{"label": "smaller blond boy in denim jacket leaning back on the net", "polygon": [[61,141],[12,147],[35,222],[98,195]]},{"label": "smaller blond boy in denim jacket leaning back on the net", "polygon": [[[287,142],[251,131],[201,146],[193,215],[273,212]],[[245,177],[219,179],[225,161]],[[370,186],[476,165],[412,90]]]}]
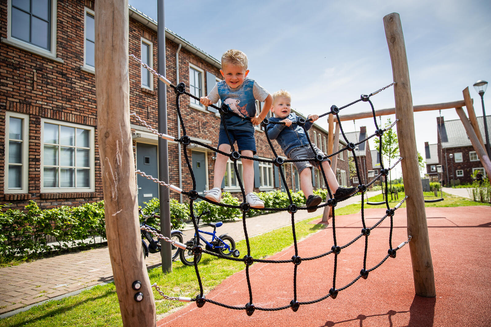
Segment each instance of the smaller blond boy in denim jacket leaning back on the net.
[{"label": "smaller blond boy in denim jacket leaning back on the net", "polygon": [[[285,125],[279,124],[268,124],[266,126],[266,132],[271,140],[276,139],[281,147],[281,150],[285,153],[288,159],[307,159],[314,158],[317,154],[324,156],[324,153],[319,150],[314,144],[312,151],[307,140],[307,136],[302,127],[297,124],[299,118],[295,113],[291,112],[290,102],[292,96],[289,92],[280,90],[274,92],[273,94],[273,105],[271,106],[271,112],[274,113],[273,118],[269,120],[272,122],[284,122]],[[319,119],[318,115],[309,115],[307,119],[310,121],[305,123],[305,129],[308,130],[316,120]],[[341,187],[336,180],[336,176],[332,172],[331,161],[326,158],[322,161],[322,167],[324,168],[324,173],[326,174],[327,184],[329,188],[334,191],[334,199],[337,201],[343,201],[348,199],[357,190],[356,187]],[[300,174],[300,188],[303,191],[303,195],[306,198],[306,206],[313,207],[321,203],[322,198],[318,195],[314,195],[312,187],[312,173],[310,168],[315,166],[320,169],[319,163],[317,161],[300,161],[293,163],[297,167],[297,171]],[[309,168],[309,169],[306,169]],[[317,208],[307,209],[308,212],[314,212]]]}]

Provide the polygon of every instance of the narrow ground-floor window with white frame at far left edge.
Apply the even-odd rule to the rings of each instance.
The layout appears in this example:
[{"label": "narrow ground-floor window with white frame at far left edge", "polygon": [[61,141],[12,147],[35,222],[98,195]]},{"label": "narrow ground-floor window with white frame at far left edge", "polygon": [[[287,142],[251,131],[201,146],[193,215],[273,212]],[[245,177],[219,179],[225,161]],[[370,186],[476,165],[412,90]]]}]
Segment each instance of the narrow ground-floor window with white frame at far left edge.
[{"label": "narrow ground-floor window with white frame at far left edge", "polygon": [[4,193],[27,193],[29,116],[7,111],[5,122]]}]

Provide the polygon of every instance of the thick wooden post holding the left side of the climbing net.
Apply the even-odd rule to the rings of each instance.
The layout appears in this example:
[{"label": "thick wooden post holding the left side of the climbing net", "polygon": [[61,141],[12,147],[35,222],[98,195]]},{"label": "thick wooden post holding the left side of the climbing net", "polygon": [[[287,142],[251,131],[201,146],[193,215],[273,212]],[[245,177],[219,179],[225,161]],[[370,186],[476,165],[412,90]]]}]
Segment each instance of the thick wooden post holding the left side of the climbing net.
[{"label": "thick wooden post holding the left side of the climbing net", "polygon": [[[130,130],[128,0],[95,1],[97,134],[106,234],[123,326],[156,326],[155,301],[143,261]],[[134,281],[141,288],[132,288]],[[143,300],[136,302],[141,292]]]}]

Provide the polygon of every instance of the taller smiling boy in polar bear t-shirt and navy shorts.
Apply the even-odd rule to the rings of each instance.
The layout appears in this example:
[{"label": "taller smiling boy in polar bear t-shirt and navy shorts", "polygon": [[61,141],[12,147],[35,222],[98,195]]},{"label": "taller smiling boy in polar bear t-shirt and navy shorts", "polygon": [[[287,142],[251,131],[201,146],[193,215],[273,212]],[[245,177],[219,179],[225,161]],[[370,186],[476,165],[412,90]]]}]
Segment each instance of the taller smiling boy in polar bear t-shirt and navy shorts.
[{"label": "taller smiling boy in polar bear t-shirt and navy shorts", "polygon": [[[247,74],[249,74],[247,56],[240,50],[228,50],[222,55],[220,73],[224,80],[218,82],[211,92],[206,97],[201,97],[199,101],[204,105],[210,105],[221,100],[228,105],[230,111],[240,116],[227,113],[222,117],[218,136],[218,150],[226,153],[231,150],[231,144],[224,129],[226,126],[232,144],[237,141],[241,155],[252,157],[256,153],[254,126],[259,125],[266,117],[273,97],[253,79],[247,78]],[[256,116],[256,100],[264,102],[263,109],[258,116]],[[220,113],[220,115],[223,114]],[[250,118],[250,121],[243,118]],[[221,200],[220,185],[225,175],[228,158],[223,154],[217,154],[213,188],[205,191],[205,198],[208,200],[215,202]],[[242,158],[242,166],[247,203],[252,208],[264,208],[264,202],[252,192],[254,188],[254,162]]]}]

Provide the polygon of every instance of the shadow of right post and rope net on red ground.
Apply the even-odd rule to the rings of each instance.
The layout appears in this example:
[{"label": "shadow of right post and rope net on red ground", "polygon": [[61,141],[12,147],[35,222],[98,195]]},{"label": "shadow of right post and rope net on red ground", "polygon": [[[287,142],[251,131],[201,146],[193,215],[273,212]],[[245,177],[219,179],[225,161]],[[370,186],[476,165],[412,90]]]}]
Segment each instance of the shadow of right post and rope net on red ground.
[{"label": "shadow of right post and rope net on red ground", "polygon": [[436,304],[436,298],[423,298],[415,295],[408,311],[389,310],[386,313],[372,314],[368,316],[359,314],[355,318],[349,320],[342,320],[338,322],[327,321],[326,324],[319,327],[334,327],[338,324],[345,324],[348,322],[356,322],[356,321],[358,321],[359,324],[356,325],[362,327],[364,320],[370,319],[372,317],[381,317],[381,316],[387,316],[387,324],[386,325],[384,324],[382,326],[393,327],[394,324],[392,322],[392,317],[399,313],[408,313],[408,312],[409,312],[409,323],[404,327],[432,327],[435,317],[435,304]]}]

